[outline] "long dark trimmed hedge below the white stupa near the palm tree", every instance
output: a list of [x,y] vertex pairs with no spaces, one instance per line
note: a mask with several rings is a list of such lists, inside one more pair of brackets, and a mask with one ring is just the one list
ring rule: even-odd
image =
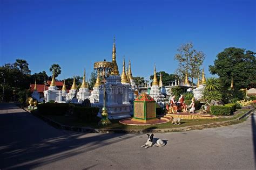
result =
[[44,103],[37,105],[38,112],[45,115],[65,115],[69,107],[69,103]]

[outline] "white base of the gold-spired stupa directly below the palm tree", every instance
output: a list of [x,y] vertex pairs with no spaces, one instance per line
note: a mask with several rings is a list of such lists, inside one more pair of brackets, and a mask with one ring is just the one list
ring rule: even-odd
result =
[[56,86],[50,86],[48,90],[44,91],[45,102],[53,100],[55,102],[62,102],[62,91],[58,90]]

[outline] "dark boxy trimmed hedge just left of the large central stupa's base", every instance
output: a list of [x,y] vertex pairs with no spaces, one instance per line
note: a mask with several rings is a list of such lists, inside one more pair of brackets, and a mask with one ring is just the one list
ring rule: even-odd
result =
[[85,122],[97,121],[99,108],[96,107],[74,107],[73,114]]

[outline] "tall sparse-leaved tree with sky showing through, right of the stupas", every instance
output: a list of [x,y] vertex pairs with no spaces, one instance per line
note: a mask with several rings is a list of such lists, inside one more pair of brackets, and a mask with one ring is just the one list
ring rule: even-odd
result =
[[174,60],[177,60],[179,64],[176,73],[181,79],[184,79],[185,73],[187,72],[188,77],[191,77],[192,83],[193,79],[199,76],[200,66],[205,59],[205,54],[201,51],[197,51],[193,47],[192,42],[182,44],[180,48],[178,48],[179,53],[174,56]]

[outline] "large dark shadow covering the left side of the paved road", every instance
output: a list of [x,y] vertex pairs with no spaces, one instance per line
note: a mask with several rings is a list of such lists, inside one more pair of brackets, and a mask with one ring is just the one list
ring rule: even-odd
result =
[[1,169],[36,168],[134,137],[67,132],[53,128],[28,112],[14,109],[0,114]]

